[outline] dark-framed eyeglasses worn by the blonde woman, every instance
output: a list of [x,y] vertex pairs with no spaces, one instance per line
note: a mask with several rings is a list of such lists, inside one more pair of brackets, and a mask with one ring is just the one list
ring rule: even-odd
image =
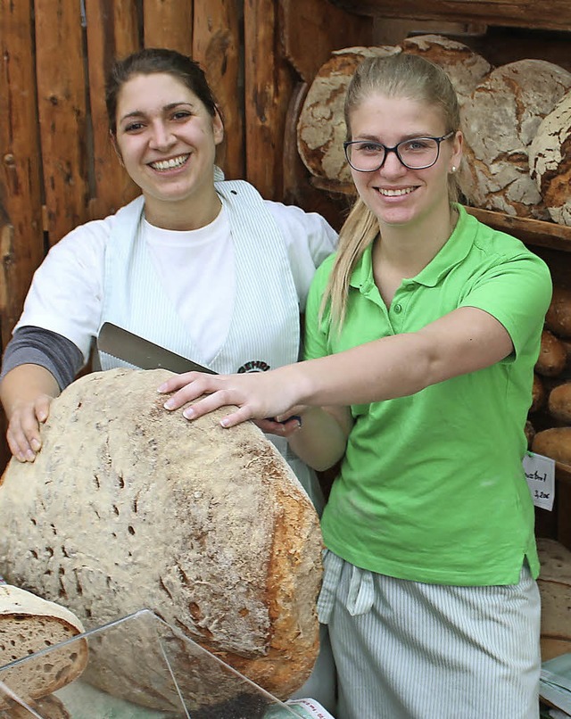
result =
[[350,140],[343,143],[343,150],[352,169],[358,172],[381,169],[388,153],[394,153],[405,168],[426,169],[438,160],[443,140],[448,140],[453,135],[454,130],[442,137],[412,137],[410,140],[402,140],[394,147],[370,140]]

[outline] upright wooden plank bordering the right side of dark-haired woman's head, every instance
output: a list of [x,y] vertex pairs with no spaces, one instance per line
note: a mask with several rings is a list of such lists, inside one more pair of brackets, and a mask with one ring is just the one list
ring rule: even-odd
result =
[[222,112],[225,141],[218,162],[228,179],[245,174],[241,28],[236,0],[194,0],[193,57],[206,72]]

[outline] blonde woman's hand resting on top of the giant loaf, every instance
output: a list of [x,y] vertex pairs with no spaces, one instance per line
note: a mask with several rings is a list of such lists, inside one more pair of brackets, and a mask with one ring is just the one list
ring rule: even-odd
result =
[[[170,377],[158,391],[173,393],[165,401],[165,409],[179,409],[193,402],[192,407],[183,410],[186,419],[203,417],[220,407],[236,406],[237,409],[222,418],[222,426],[231,427],[247,419],[258,419],[271,424],[271,427],[268,424],[261,426],[264,432],[289,436],[299,428],[299,422],[292,417],[299,415],[302,409],[297,406],[294,382],[289,381],[294,367],[288,365],[268,372],[242,375],[186,372]],[[278,426],[281,422],[285,422],[285,426]]]

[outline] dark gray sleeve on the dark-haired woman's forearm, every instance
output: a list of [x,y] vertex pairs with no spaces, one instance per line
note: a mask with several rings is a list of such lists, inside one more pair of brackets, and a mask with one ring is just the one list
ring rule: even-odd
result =
[[24,326],[14,332],[6,345],[0,379],[11,369],[26,364],[46,368],[62,390],[73,382],[83,366],[83,355],[67,337],[49,329]]

